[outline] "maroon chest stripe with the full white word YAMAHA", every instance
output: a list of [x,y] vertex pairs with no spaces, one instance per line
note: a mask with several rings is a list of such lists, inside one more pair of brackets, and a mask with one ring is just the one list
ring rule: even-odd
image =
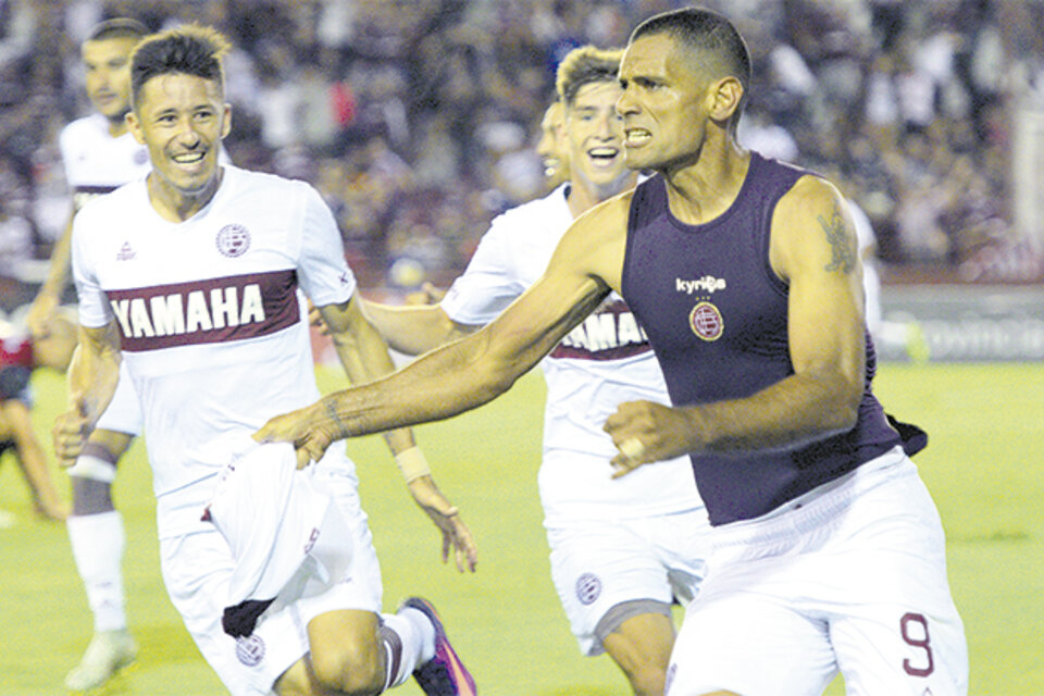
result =
[[300,321],[293,269],[107,290],[129,352],[266,336]]

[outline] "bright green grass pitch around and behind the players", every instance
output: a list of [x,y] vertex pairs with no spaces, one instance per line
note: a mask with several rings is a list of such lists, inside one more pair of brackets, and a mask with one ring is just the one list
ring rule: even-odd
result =
[[[335,373],[320,371],[326,389]],[[64,398],[60,376],[35,378],[39,434]],[[888,410],[923,425],[918,456],[948,537],[949,576],[971,658],[971,694],[1044,695],[1044,366],[882,366]],[[385,606],[430,597],[486,696],[608,696],[627,689],[608,658],[580,656],[549,579],[536,497],[543,382],[530,375],[473,413],[419,428],[443,489],[480,545],[475,575],[438,561],[438,538],[402,486],[377,437],[351,442],[382,560]],[[54,472],[62,488],[63,473]],[[98,693],[222,694],[172,609],[160,580],[151,480],[135,445],[115,484],[127,529],[127,611],[137,662]],[[91,633],[62,525],[37,520],[8,459],[0,508],[0,696],[65,693],[62,680]],[[397,693],[420,694],[412,684]],[[835,683],[829,694],[842,694]]]

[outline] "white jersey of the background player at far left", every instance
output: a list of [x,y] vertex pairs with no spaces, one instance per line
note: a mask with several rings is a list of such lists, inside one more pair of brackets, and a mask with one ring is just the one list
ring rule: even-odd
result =
[[112,137],[109,120],[100,113],[66,125],[58,142],[76,210],[94,196],[144,178],[152,169],[146,147],[130,133]]

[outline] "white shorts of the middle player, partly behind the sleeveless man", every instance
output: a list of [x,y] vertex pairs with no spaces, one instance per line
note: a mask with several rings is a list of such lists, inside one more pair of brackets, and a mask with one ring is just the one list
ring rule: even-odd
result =
[[709,533],[703,509],[548,527],[551,579],[581,651],[605,652],[606,636],[634,616],[612,612],[621,604],[669,614],[675,596],[689,601],[705,574]]

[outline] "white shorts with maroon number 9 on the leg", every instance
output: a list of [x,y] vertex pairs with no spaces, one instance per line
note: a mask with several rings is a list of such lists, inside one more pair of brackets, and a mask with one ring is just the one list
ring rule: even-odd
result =
[[713,538],[669,696],[819,695],[838,669],[848,694],[967,693],[942,524],[900,450]]

